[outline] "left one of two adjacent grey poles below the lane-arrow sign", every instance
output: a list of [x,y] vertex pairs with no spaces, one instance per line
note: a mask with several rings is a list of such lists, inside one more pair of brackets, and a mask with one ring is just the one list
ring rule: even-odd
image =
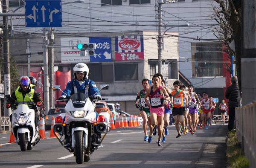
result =
[[44,48],[44,107],[49,110],[49,76],[48,76],[48,30],[43,28],[43,48]]

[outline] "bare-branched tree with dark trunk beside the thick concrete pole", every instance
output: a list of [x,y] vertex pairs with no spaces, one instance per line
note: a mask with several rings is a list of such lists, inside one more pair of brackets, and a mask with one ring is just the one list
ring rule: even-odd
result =
[[[241,42],[242,42],[242,13],[241,0],[213,0],[218,3],[214,6],[215,12],[213,18],[218,23],[218,28],[214,29],[214,35],[220,38],[227,46],[225,50],[229,57],[236,56],[237,77],[239,87],[241,88]],[[235,41],[235,52],[229,47],[232,41]]]

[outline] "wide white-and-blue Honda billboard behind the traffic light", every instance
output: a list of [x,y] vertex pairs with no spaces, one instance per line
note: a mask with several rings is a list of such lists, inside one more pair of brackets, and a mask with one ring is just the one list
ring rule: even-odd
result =
[[[96,43],[95,54],[92,56],[80,56],[80,49],[77,49],[79,43]],[[107,62],[112,61],[111,38],[110,37],[75,37],[61,38],[61,62],[79,63],[79,62]]]

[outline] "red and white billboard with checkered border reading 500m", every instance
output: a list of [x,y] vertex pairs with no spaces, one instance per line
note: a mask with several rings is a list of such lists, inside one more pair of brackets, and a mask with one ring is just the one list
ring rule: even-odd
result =
[[118,36],[116,43],[116,61],[144,60],[143,35]]

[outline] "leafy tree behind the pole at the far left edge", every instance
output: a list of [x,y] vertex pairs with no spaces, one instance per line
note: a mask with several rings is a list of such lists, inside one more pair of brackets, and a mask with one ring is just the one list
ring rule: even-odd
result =
[[[3,74],[3,58],[0,58],[0,69],[1,69],[1,83],[4,83]],[[11,93],[17,89],[19,81],[19,72],[17,71],[17,64],[13,57],[10,57],[10,77],[11,77]]]

